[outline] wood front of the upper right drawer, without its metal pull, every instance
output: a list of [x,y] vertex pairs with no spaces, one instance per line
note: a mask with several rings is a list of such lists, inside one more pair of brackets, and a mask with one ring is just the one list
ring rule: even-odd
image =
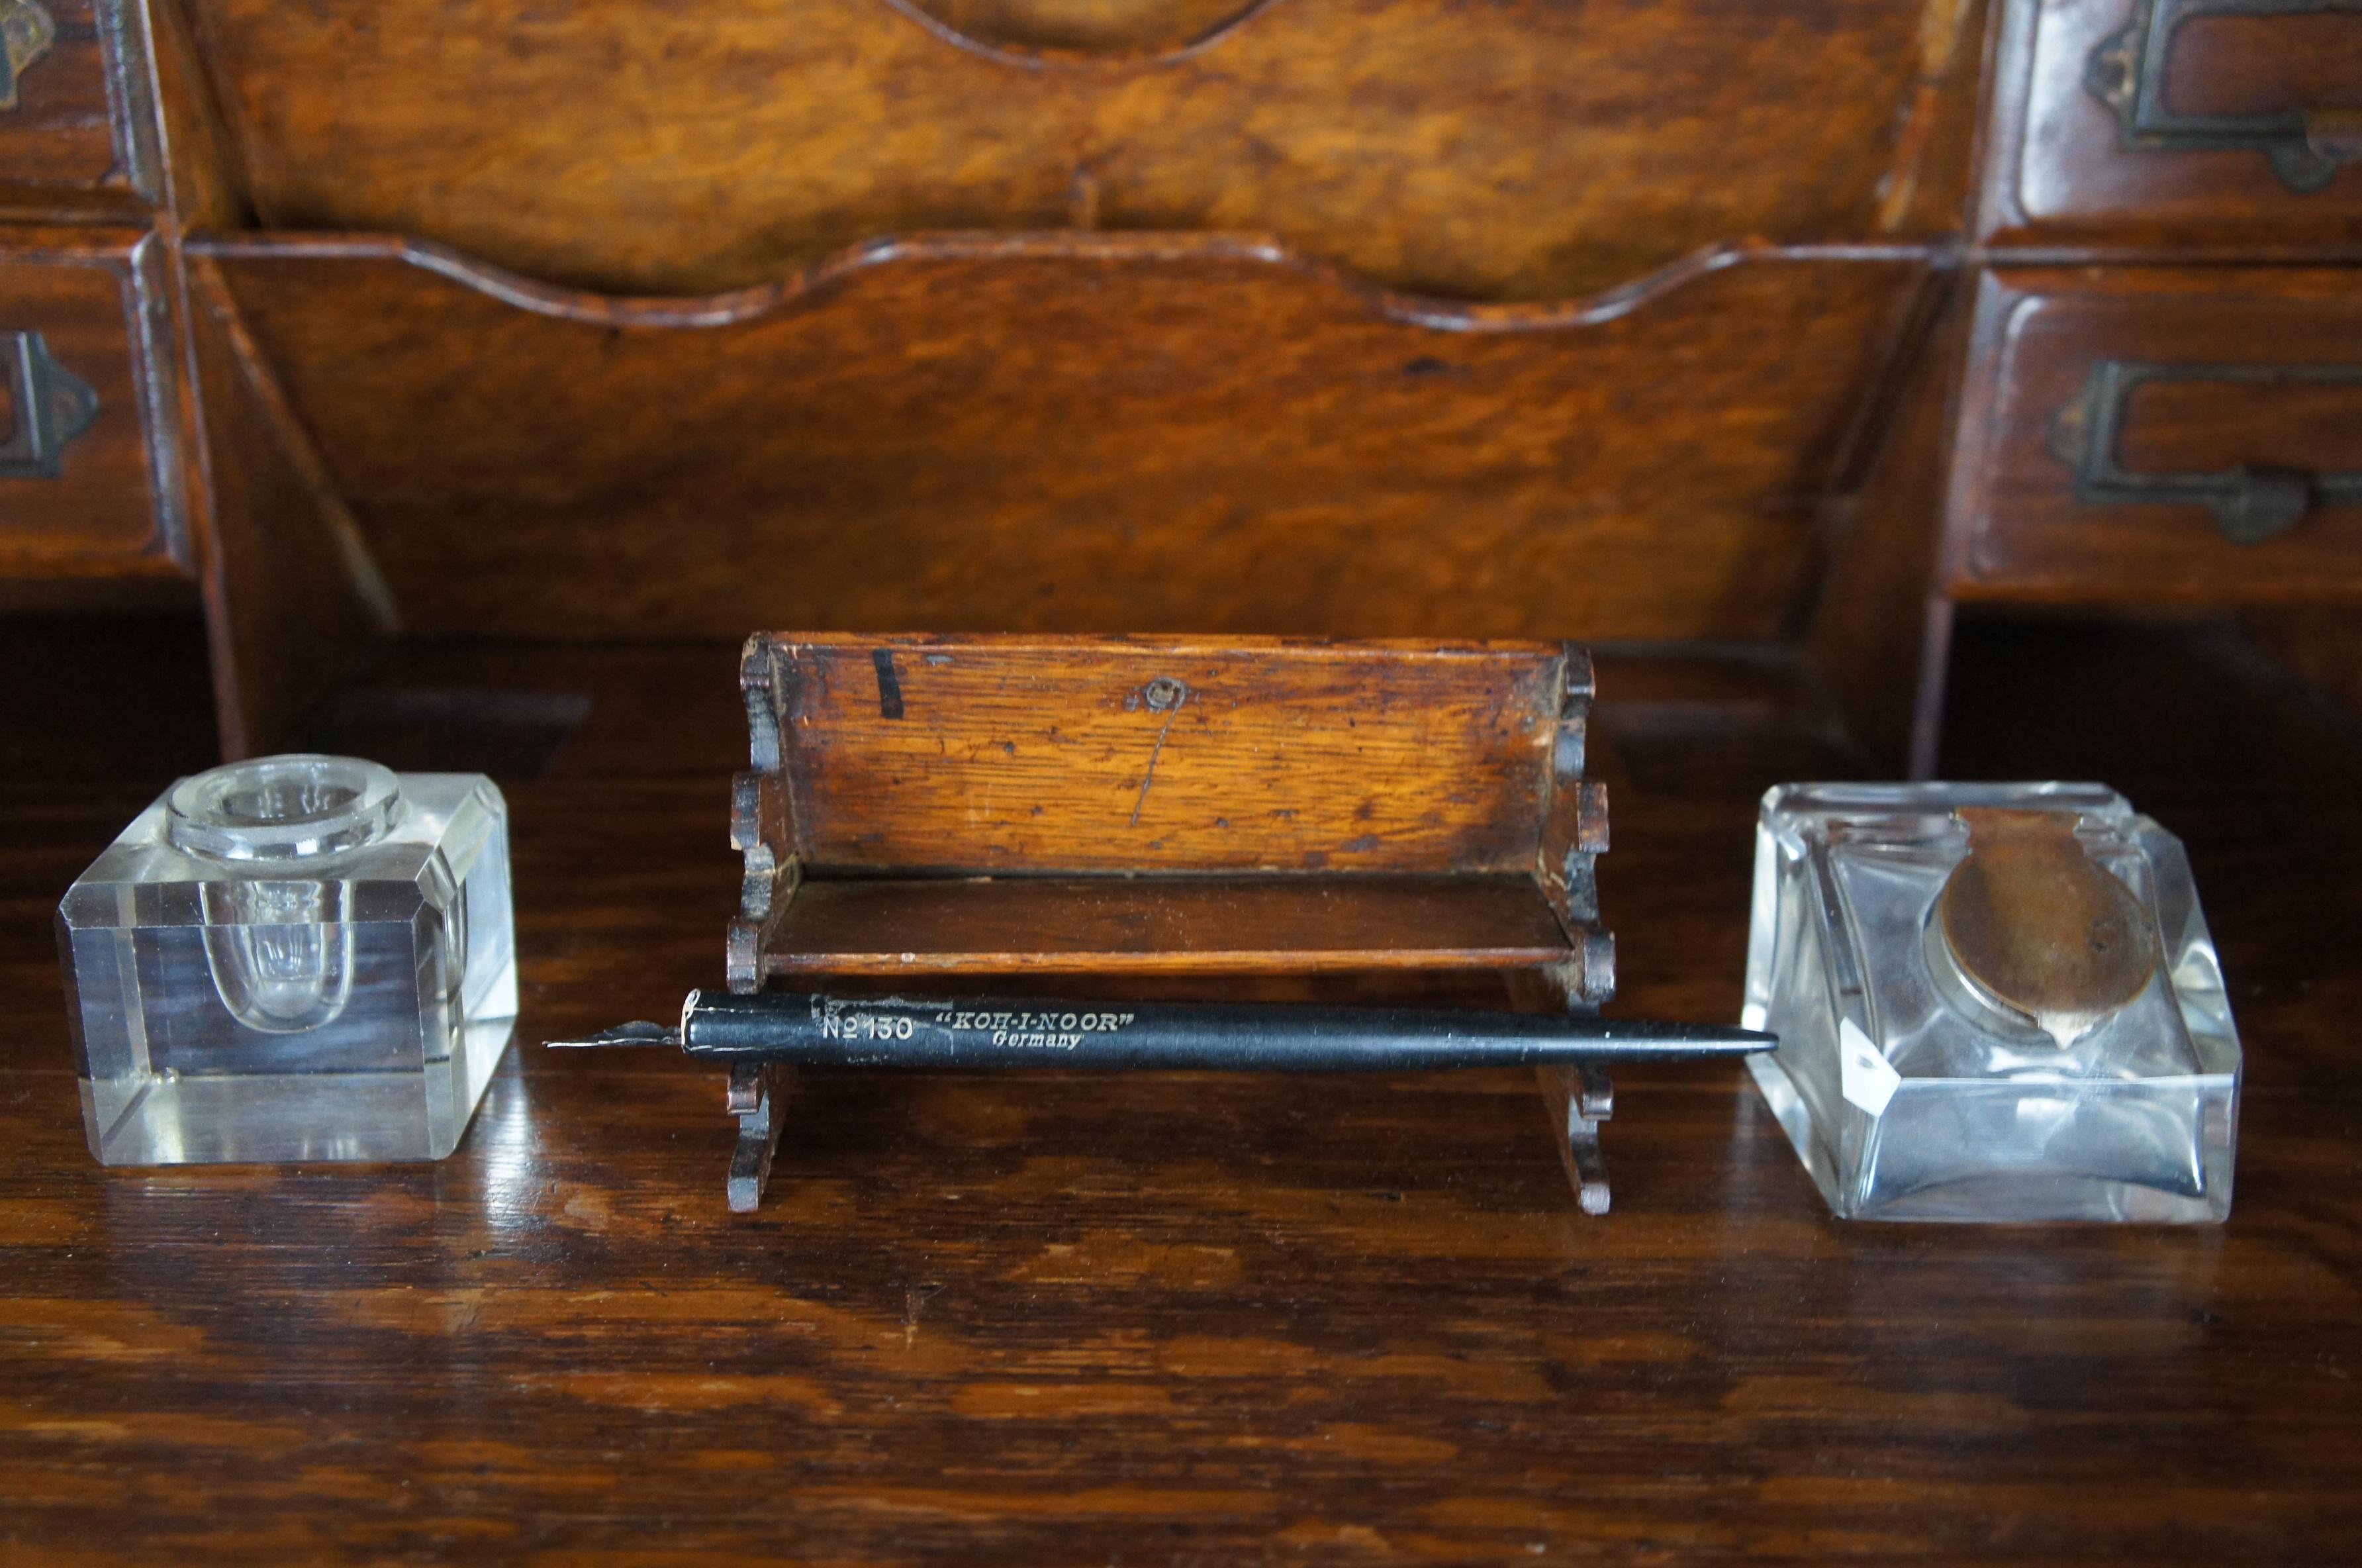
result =
[[[2263,151],[2126,146],[2090,57],[2147,0],[2008,7],[1994,57],[1979,231],[1994,243],[2298,246],[2362,255],[2362,161],[2289,189]],[[2164,104],[2208,113],[2362,113],[2362,12],[2204,17],[2175,31]]]

